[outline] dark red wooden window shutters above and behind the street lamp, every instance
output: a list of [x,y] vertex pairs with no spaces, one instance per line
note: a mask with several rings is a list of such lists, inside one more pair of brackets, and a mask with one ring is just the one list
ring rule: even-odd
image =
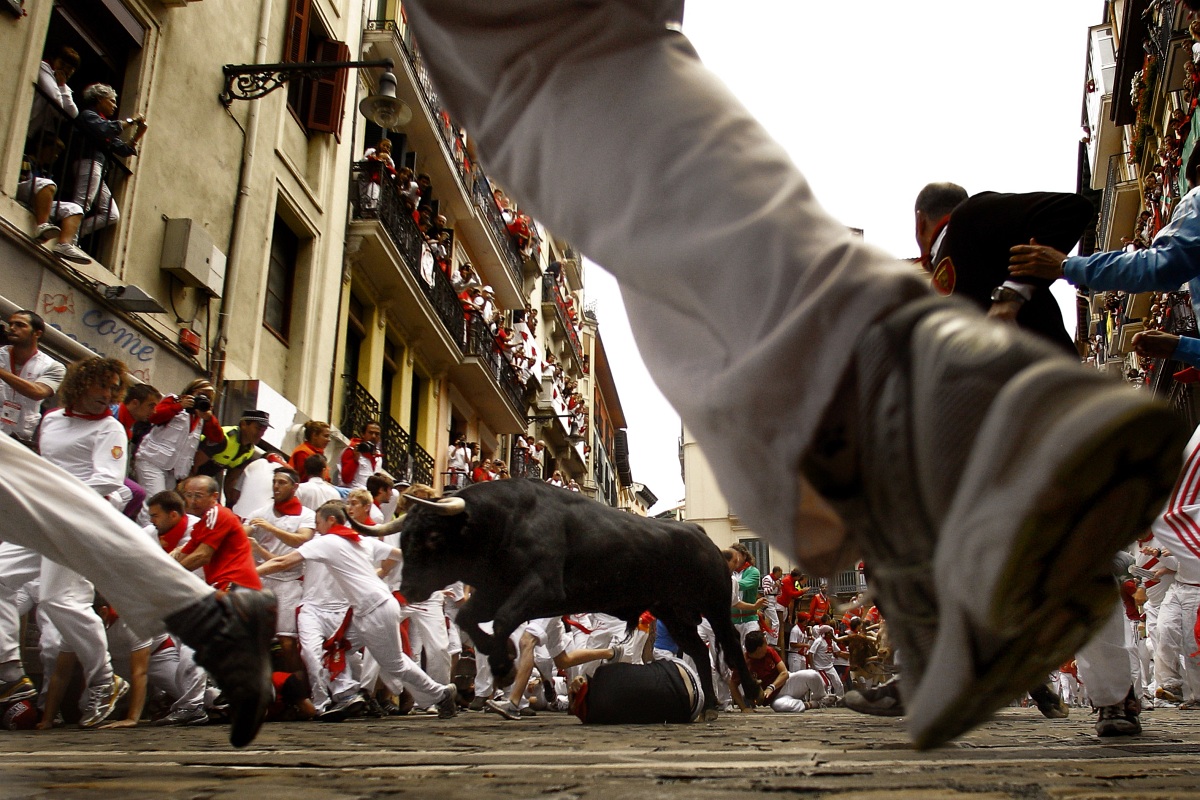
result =
[[[325,31],[313,0],[292,0],[283,40],[284,61],[349,61],[350,48]],[[349,70],[288,82],[288,107],[308,133],[338,133]]]

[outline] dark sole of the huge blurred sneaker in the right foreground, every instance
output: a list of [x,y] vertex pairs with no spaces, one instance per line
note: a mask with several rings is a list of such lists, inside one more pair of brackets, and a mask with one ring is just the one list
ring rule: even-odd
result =
[[1016,525],[986,620],[960,604],[941,609],[930,672],[912,703],[918,748],[986,721],[1104,624],[1117,600],[1112,554],[1162,510],[1187,439],[1174,414],[1142,401],[1058,461]]

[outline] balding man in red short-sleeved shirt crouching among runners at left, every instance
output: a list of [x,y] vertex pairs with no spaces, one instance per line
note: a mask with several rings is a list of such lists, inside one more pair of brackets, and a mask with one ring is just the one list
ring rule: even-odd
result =
[[218,590],[230,584],[262,589],[250,539],[238,516],[217,501],[216,481],[199,475],[182,488],[188,512],[200,521],[192,528],[192,539],[173,554],[175,560],[187,570],[204,567],[204,581]]

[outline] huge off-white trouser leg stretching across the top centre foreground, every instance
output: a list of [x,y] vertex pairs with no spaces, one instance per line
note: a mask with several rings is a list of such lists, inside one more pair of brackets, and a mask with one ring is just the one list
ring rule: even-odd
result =
[[616,276],[655,383],[722,456],[712,465],[730,505],[802,560],[828,558],[844,531],[800,510],[802,456],[860,333],[929,288],[821,209],[667,28],[679,5],[404,8],[484,167]]

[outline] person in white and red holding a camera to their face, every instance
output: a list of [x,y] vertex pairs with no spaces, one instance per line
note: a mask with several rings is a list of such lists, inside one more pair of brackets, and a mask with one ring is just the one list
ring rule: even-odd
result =
[[[196,464],[200,441],[220,446],[224,431],[212,414],[216,390],[197,378],[180,395],[163,397],[150,415],[150,431],[142,438],[134,475],[148,497],[174,489]],[[206,461],[206,459],[205,459]]]

